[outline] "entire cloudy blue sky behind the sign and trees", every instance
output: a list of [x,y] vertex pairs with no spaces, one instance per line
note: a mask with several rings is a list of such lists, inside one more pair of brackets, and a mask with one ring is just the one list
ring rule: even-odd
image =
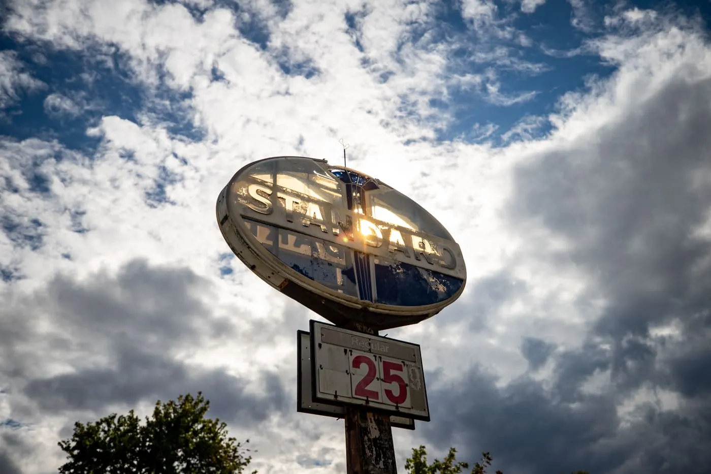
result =
[[0,5],[0,472],[75,421],[201,390],[260,473],[345,471],[296,412],[318,315],[215,201],[299,155],[382,179],[461,246],[411,448],[504,473],[711,472],[710,1]]

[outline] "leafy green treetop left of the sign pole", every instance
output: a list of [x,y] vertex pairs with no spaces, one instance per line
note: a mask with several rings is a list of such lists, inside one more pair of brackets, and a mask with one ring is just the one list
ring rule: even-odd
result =
[[[153,416],[140,423],[134,411],[94,423],[75,423],[60,441],[68,461],[60,474],[240,474],[252,460],[227,425],[205,418],[210,402],[201,392],[156,402]],[[246,441],[247,443],[249,440]],[[252,474],[257,473],[253,471]]]

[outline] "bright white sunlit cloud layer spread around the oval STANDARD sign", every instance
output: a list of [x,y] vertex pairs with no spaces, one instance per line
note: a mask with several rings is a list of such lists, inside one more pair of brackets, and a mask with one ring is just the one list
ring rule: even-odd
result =
[[[535,134],[547,119],[523,117],[502,135],[510,143],[494,149],[486,143],[497,130],[493,122],[472,127],[472,135],[484,144],[437,142],[434,127],[447,125],[451,117],[430,100],[453,100],[447,96],[453,85],[501,106],[525,104],[535,91],[503,93],[510,89],[496,70],[451,75],[451,45],[437,42],[425,31],[435,18],[432,4],[426,2],[366,6],[356,20],[363,51],[355,46],[353,32],[346,31],[344,19],[346,12],[361,11],[360,2],[294,2],[284,19],[275,6],[257,2],[249,15],[264,22],[267,48],[237,31],[235,22],[245,18],[228,9],[213,9],[196,21],[181,5],[138,0],[38,5],[18,3],[16,14],[6,22],[9,31],[46,39],[58,48],[98,44],[108,51],[109,43],[115,45],[128,56],[137,84],[149,98],[147,107],[157,100],[151,99],[151,91],[158,85],[189,92],[181,107],[206,136],[196,141],[175,137],[166,123],[146,110],[135,120],[108,112],[87,130],[100,141],[90,155],[46,139],[2,142],[2,216],[16,221],[24,237],[41,238],[41,246],[32,250],[21,238],[12,240],[0,233],[0,265],[26,277],[0,283],[7,295],[4,300],[12,301],[16,309],[31,309],[41,322],[28,330],[22,350],[50,358],[32,359],[37,363],[33,376],[79,373],[86,364],[99,368],[118,364],[100,331],[82,332],[69,349],[52,345],[66,342],[67,329],[60,322],[69,312],[52,310],[38,295],[50,288],[58,273],[71,288],[114,295],[104,293],[100,284],[111,288],[114,280],[124,281],[122,271],[136,258],[146,260],[150,270],[146,274],[160,273],[165,265],[177,267],[173,273],[189,270],[195,281],[202,282],[195,288],[204,293],[196,301],[209,308],[205,320],[222,321],[232,332],[225,331],[229,340],[218,335],[181,342],[171,347],[169,362],[187,364],[186,373],[193,376],[198,369],[224,370],[241,377],[249,391],[266,390],[262,378],[266,367],[287,387],[287,411],[275,409],[258,428],[237,421],[231,426],[238,438],[252,438],[260,472],[297,472],[304,455],[331,460],[321,472],[342,470],[343,426],[293,413],[294,330],[304,329],[314,315],[267,288],[236,260],[230,262],[234,273],[219,275],[221,254],[229,250],[216,228],[213,209],[232,173],[253,159],[277,154],[340,162],[338,138],[345,137],[351,143],[351,166],[420,201],[465,249],[470,280],[461,300],[432,320],[390,336],[421,343],[427,369],[442,372],[443,383],[461,385],[468,367],[483,364],[500,376],[497,386],[506,387],[527,367],[518,347],[522,337],[545,339],[560,351],[579,347],[608,297],[590,295],[597,276],[594,268],[570,260],[574,242],[540,222],[512,223],[506,218],[506,205],[516,191],[517,167],[567,156],[572,144],[583,150],[574,159],[597,162],[599,157],[584,152],[582,144],[594,149],[601,136],[611,142],[619,139],[600,131],[630,120],[646,103],[661,100],[670,83],[698,84],[711,76],[710,51],[699,31],[638,12],[611,18],[606,36],[589,41],[587,47],[616,72],[562,95],[559,109],[550,117],[549,135]],[[462,11],[475,22],[490,21],[497,13],[490,2],[466,2]],[[503,49],[481,60],[488,64],[507,58],[508,50]],[[306,63],[314,75],[284,73],[280,63],[292,68]],[[213,67],[223,80],[212,80]],[[161,68],[169,73],[164,84]],[[17,90],[17,83],[12,84]],[[50,110],[64,113],[74,113],[79,104],[80,100],[58,94],[46,99]],[[412,144],[406,145],[410,139]],[[35,172],[46,177],[47,191],[35,189]],[[166,181],[161,173],[172,179]],[[146,198],[158,185],[164,186],[170,203],[156,205]],[[576,204],[584,203],[570,205]],[[41,226],[32,223],[32,217]],[[87,232],[77,233],[80,229]],[[538,247],[532,248],[534,243]],[[558,260],[545,258],[550,255]],[[146,288],[156,285],[151,281]],[[143,314],[137,312],[145,310],[141,305],[157,305],[140,288],[129,286],[125,291],[133,299],[120,306],[127,315]],[[156,293],[158,297],[162,295]],[[559,365],[552,360],[545,367],[553,373]],[[60,428],[77,416],[95,414],[45,418],[38,401],[23,393],[27,380],[2,376],[2,383],[17,387],[4,396],[4,411],[17,419],[31,418],[38,426],[36,433],[41,433],[26,436],[36,453],[34,460],[26,460],[26,472],[50,470],[60,463],[55,447]],[[129,402],[114,406],[124,409]],[[437,420],[431,425],[437,426]],[[398,431],[398,455],[422,441],[423,433],[427,431]]]

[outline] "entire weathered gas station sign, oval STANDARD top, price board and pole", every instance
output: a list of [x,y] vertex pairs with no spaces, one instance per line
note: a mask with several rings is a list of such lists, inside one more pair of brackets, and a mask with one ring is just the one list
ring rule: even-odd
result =
[[247,164],[217,218],[250,270],[334,324],[297,334],[297,410],[345,418],[349,474],[395,473],[391,426],[415,429],[429,406],[419,346],[378,332],[459,297],[459,246],[382,181],[305,157]]

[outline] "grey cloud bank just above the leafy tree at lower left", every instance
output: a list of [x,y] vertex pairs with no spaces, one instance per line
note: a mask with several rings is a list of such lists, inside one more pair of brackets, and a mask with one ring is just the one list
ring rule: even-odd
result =
[[[15,384],[26,382],[24,394],[46,414],[103,415],[115,404],[135,406],[197,391],[210,400],[210,414],[225,421],[249,424],[284,411],[287,396],[276,374],[261,372],[248,388],[250,381],[225,369],[201,369],[174,357],[205,338],[233,334],[198,298],[210,291],[187,268],[143,260],[115,276],[97,273],[77,281],[59,275],[46,290],[6,308],[4,316],[17,324],[0,333],[0,368]],[[28,323],[43,315],[55,332],[41,334]],[[74,370],[46,376],[48,359]]]

